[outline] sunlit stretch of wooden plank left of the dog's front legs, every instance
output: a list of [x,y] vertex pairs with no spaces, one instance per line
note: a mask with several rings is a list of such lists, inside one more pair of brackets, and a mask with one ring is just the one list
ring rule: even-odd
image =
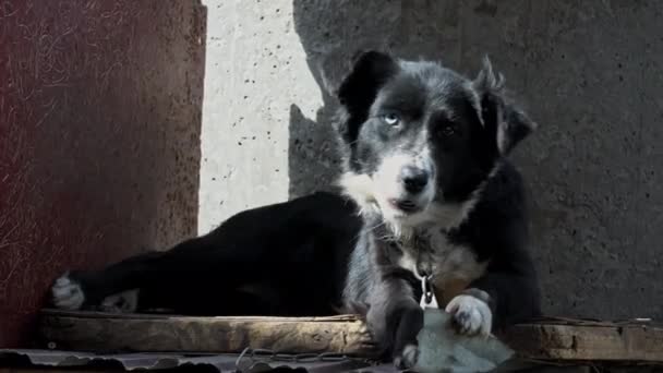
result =
[[371,338],[354,316],[185,317],[45,311],[41,333],[58,349],[82,351],[281,352],[365,356]]

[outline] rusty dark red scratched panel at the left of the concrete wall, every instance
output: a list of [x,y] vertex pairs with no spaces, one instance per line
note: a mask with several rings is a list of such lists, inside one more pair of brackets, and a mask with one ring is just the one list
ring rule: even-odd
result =
[[195,234],[200,1],[0,2],[0,347],[65,268]]

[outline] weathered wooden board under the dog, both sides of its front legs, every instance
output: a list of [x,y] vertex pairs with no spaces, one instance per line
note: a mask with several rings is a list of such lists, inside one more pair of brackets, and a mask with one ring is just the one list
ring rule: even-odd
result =
[[[334,317],[183,317],[45,310],[41,332],[59,349],[142,352],[279,352],[370,356],[364,323]],[[526,359],[663,362],[663,328],[642,323],[542,320],[499,336]]]

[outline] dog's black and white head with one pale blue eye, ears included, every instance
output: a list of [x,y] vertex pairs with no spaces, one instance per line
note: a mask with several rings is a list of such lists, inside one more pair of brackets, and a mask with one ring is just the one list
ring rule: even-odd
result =
[[474,80],[370,51],[338,89],[341,185],[363,210],[414,226],[461,206],[534,128],[487,58]]

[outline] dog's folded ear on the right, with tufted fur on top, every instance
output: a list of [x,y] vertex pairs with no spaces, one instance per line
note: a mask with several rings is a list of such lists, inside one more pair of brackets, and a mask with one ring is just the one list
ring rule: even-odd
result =
[[483,125],[495,140],[501,155],[507,155],[537,129],[537,123],[507,97],[504,82],[504,76],[495,75],[490,59],[484,57],[472,85],[479,94]]

